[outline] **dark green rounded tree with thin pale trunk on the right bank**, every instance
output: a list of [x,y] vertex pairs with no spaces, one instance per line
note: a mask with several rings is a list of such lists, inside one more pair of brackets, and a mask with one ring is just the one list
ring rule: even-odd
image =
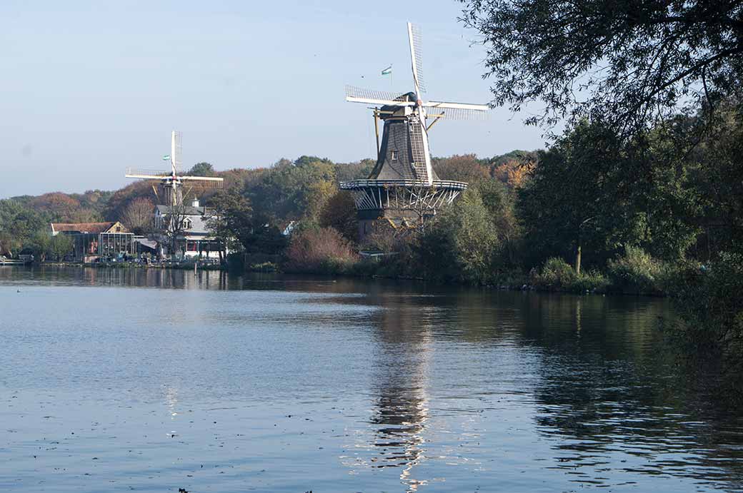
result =
[[531,263],[561,255],[580,273],[583,253],[603,261],[627,240],[635,219],[626,189],[629,163],[617,137],[602,125],[581,122],[540,153],[531,180],[519,190],[519,211]]

